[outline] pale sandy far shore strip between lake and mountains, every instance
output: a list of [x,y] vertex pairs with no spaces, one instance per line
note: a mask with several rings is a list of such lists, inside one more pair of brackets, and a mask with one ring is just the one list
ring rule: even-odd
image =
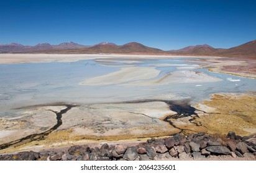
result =
[[[199,58],[198,61],[208,61],[208,59],[203,60],[203,58],[213,58],[219,59],[216,62],[213,62],[214,68],[208,68],[211,72],[223,73],[223,74],[232,74],[237,75],[239,77],[249,77],[256,78],[256,70],[255,64],[256,60],[252,57],[222,57],[222,56],[190,56],[190,55],[167,55],[167,54],[34,54],[34,53],[24,53],[24,54],[16,54],[16,53],[0,53],[0,64],[23,64],[23,63],[47,63],[47,62],[76,62],[81,60],[89,60],[89,59],[112,59],[112,58],[124,58],[124,59],[157,59],[158,57],[163,58],[174,58],[174,57],[184,57],[184,58]],[[203,60],[203,61],[202,61]],[[226,61],[226,62],[225,62]],[[244,62],[245,64],[241,63]],[[227,62],[231,62],[230,64]],[[230,72],[226,69],[227,66],[234,66],[232,63],[234,62],[237,67],[242,67],[242,71],[240,68],[235,69]],[[226,66],[225,66],[226,65]],[[247,72],[250,70],[250,73]]]

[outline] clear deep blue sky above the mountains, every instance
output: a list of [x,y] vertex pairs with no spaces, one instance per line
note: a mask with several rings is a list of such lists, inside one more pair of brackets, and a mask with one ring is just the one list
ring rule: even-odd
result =
[[231,48],[256,39],[255,7],[254,0],[1,0],[0,43]]

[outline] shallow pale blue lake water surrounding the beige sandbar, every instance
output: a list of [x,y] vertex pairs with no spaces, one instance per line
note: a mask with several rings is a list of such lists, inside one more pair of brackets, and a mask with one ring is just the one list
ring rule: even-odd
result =
[[[175,95],[177,99],[191,98],[192,102],[208,98],[212,93],[255,91],[256,80],[234,75],[193,69],[221,78],[220,82],[172,83],[157,86],[100,85],[85,86],[78,83],[92,77],[116,72],[128,65],[155,67],[161,70],[158,77],[178,70],[177,64],[193,65],[183,58],[171,59],[104,59],[104,61],[83,60],[77,62],[48,62],[0,65],[0,117],[17,116],[22,106],[68,103],[107,103],[132,99],[147,99],[154,95]],[[121,61],[132,61],[131,63]],[[191,59],[190,59],[191,60]],[[174,64],[157,66],[157,64]],[[202,64],[200,62],[200,64]],[[233,80],[233,82],[231,81]],[[234,81],[237,80],[237,81]],[[240,80],[240,81],[238,81]],[[175,98],[171,98],[175,99]]]

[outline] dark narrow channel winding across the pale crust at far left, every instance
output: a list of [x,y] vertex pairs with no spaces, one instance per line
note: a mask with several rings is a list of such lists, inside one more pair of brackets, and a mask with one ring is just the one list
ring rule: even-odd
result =
[[[47,106],[47,105],[43,105],[43,106]],[[50,106],[52,106],[52,105],[50,105]],[[4,143],[4,144],[0,145],[0,150],[8,148],[9,146],[19,146],[19,145],[22,145],[24,143],[29,143],[31,141],[44,140],[47,135],[49,135],[50,133],[53,132],[53,130],[58,129],[58,127],[60,127],[60,125],[62,125],[62,114],[65,114],[71,108],[76,107],[76,105],[72,105],[72,104],[54,105],[54,106],[66,106],[66,108],[62,109],[60,112],[52,111],[56,114],[57,124],[55,124],[51,129],[49,129],[45,132],[42,132],[42,133],[35,133],[35,134],[32,134],[32,135],[28,135],[27,137],[21,138],[19,140],[11,141],[9,143]],[[51,110],[49,110],[49,111],[51,111]]]

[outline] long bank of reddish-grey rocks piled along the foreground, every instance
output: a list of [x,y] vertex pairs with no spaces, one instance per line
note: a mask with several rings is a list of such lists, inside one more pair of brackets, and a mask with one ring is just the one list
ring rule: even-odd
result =
[[256,135],[240,137],[229,132],[227,137],[206,133],[151,139],[134,146],[107,143],[100,148],[88,145],[70,146],[66,151],[23,151],[17,154],[0,154],[0,160],[9,161],[147,161],[147,160],[207,160],[230,158],[256,160]]

